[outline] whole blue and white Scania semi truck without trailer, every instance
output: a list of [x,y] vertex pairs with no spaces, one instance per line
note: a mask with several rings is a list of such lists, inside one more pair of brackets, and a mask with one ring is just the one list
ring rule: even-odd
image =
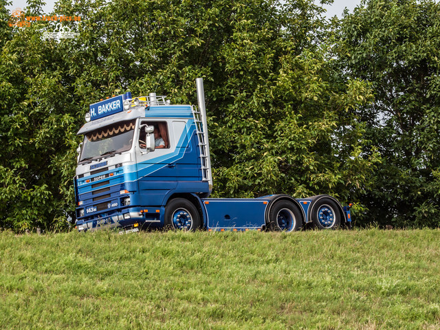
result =
[[351,223],[349,206],[334,197],[208,198],[212,173],[203,80],[198,107],[164,96],[130,93],[91,104],[78,131],[74,177],[76,227],[175,230],[283,230],[305,223],[338,228]]

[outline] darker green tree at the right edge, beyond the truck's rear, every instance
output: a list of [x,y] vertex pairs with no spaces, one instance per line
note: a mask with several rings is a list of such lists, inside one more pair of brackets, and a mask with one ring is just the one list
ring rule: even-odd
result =
[[375,94],[353,108],[383,158],[360,197],[365,221],[438,226],[440,5],[363,1],[345,12],[337,32],[342,71],[371,83]]

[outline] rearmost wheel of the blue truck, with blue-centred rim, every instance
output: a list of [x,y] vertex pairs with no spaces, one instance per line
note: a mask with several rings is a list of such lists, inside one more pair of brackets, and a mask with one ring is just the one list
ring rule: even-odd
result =
[[342,214],[335,201],[322,198],[311,209],[311,221],[318,229],[337,229],[341,225]]

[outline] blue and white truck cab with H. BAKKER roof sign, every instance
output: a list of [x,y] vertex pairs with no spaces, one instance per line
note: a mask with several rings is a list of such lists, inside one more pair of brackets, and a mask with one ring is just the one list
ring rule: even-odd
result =
[[171,196],[208,197],[195,111],[154,94],[91,104],[78,131],[78,230],[163,227]]

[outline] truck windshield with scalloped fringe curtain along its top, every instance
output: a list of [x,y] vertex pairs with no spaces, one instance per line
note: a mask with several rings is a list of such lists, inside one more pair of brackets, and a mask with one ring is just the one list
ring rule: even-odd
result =
[[134,129],[135,120],[130,120],[85,134],[80,162],[130,150]]

